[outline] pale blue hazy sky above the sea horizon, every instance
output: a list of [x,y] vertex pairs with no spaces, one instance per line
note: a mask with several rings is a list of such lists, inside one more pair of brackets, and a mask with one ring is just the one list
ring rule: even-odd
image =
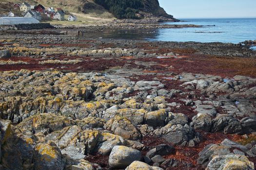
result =
[[256,0],[159,0],[176,18],[256,17]]

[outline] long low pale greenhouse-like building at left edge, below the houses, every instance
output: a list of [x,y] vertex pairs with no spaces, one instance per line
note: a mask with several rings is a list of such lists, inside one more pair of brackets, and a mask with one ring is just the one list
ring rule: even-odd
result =
[[0,17],[0,25],[16,25],[16,24],[38,24],[39,20],[33,17]]

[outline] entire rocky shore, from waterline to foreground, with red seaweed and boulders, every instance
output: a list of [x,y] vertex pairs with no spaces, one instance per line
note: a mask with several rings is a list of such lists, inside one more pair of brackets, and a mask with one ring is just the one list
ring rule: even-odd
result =
[[0,32],[0,169],[255,169],[256,51],[67,31]]

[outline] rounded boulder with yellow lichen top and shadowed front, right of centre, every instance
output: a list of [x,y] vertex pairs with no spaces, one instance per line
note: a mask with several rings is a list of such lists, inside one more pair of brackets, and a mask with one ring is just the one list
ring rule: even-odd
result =
[[160,109],[145,114],[145,120],[148,125],[153,127],[164,126],[166,123],[167,112],[165,109]]

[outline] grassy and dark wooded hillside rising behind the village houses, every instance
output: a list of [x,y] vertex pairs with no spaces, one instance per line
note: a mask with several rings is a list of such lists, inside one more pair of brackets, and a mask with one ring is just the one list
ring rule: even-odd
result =
[[[0,12],[8,12],[3,3],[22,3],[23,0],[1,0]],[[159,6],[158,0],[26,0],[36,5],[45,7],[59,7],[73,13],[91,14],[94,17],[103,18],[142,18],[153,15],[156,17],[168,17],[163,8]]]

